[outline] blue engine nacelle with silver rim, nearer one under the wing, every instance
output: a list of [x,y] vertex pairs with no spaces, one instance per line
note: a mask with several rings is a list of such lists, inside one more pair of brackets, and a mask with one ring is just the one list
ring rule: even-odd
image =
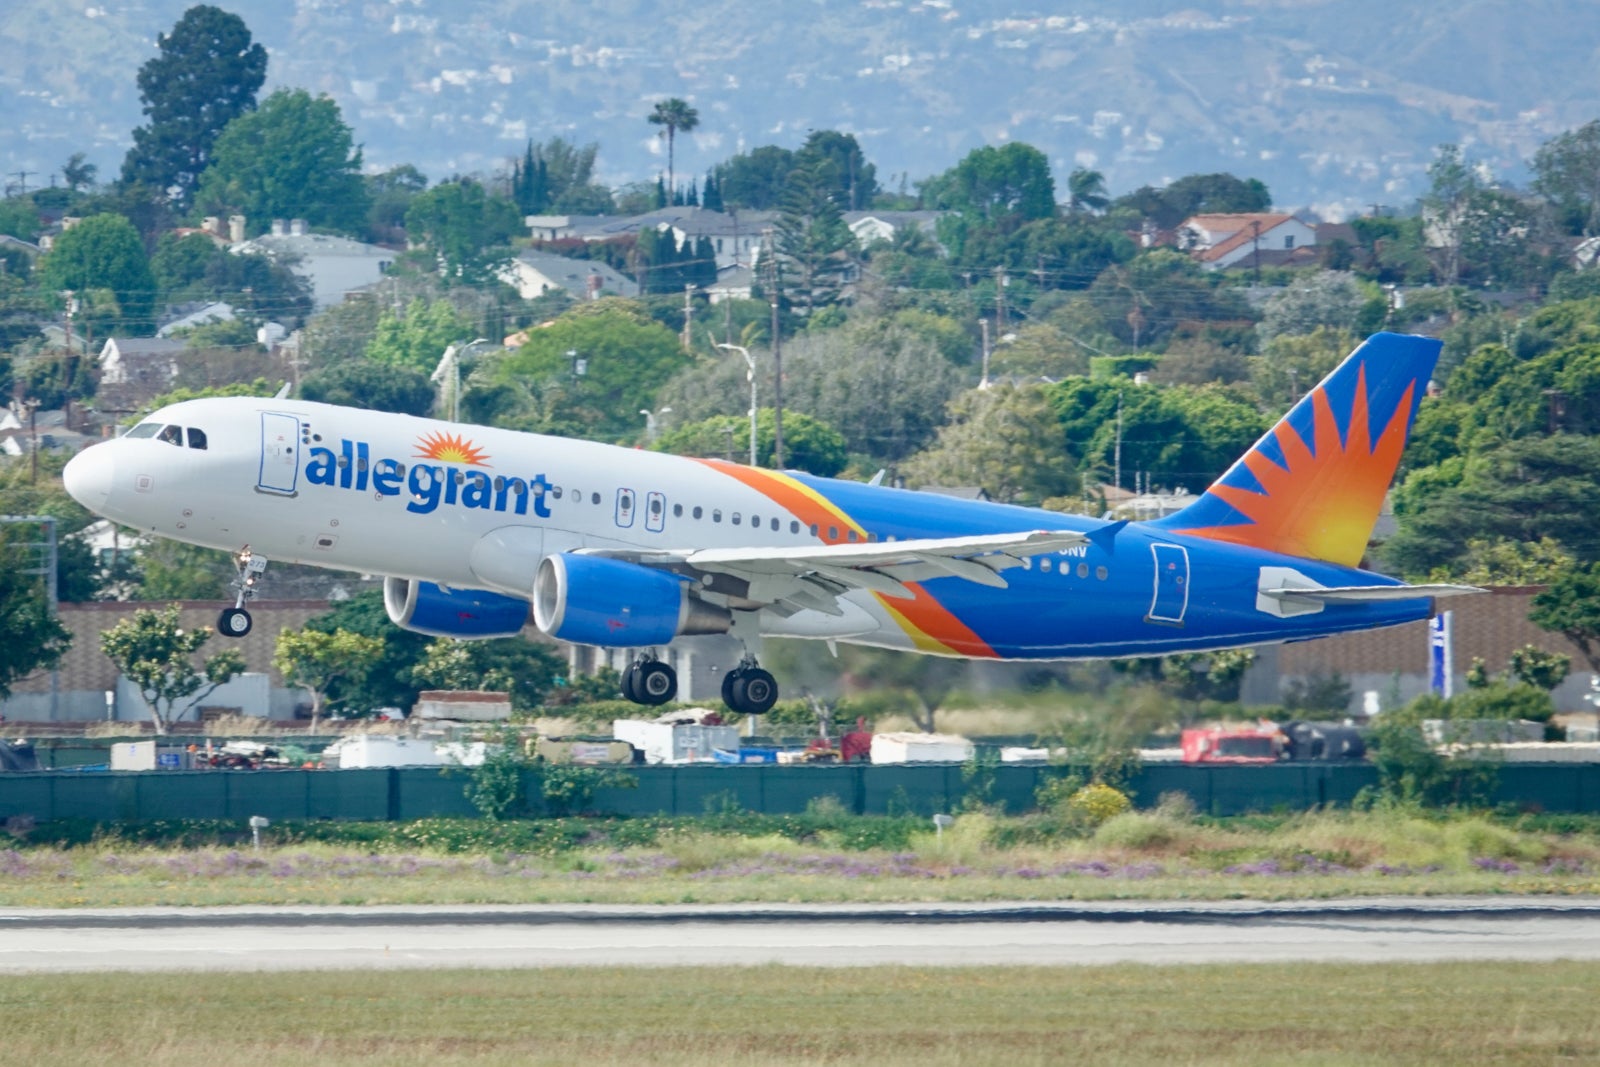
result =
[[677,574],[597,555],[549,555],[533,581],[533,621],[562,641],[606,648],[726,633],[726,609],[690,597]]

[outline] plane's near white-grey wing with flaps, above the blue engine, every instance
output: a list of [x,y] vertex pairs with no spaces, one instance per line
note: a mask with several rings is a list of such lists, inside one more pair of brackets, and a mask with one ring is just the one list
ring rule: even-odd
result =
[[[1114,528],[1112,528],[1114,526]],[[627,558],[645,566],[701,574],[726,574],[747,584],[741,600],[779,609],[816,609],[842,614],[837,598],[862,589],[898,600],[915,597],[907,582],[933,577],[960,577],[979,585],[1005,589],[1002,571],[1022,566],[1022,560],[1062,549],[1075,549],[1102,536],[1114,536],[1122,523],[1088,534],[1067,530],[976,534],[966,537],[918,537],[912,541],[856,541],[829,545],[782,545],[739,549],[682,549],[632,552],[586,549],[592,555]],[[715,592],[715,582],[710,584]],[[752,605],[754,606],[754,605]]]

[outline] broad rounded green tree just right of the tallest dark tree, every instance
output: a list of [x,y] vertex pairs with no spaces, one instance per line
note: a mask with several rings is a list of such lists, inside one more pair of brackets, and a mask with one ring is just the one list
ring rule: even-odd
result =
[[195,203],[205,214],[243,214],[254,234],[290,218],[360,234],[362,150],[331,98],[278,90],[216,139]]

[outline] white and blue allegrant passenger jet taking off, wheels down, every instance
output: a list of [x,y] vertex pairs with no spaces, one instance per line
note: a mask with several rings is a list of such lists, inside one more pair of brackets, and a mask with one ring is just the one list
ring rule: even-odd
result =
[[226,637],[267,560],[384,576],[389,617],[454,638],[637,649],[622,694],[677,694],[659,649],[728,633],[738,713],[768,637],[973,659],[1165,656],[1426,619],[1469,585],[1358,569],[1438,357],[1378,333],[1195,502],[1154,522],[962,501],[795,470],[280,394],[165,406],[66,467],[118,523],[234,553]]

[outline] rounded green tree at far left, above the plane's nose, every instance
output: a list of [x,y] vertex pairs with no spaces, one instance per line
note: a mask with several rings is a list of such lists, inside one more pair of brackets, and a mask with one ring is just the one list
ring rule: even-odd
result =
[[155,277],[144,242],[120,214],[94,214],[67,229],[38,261],[38,283],[50,293],[80,296],[80,320],[104,336],[155,331]]

